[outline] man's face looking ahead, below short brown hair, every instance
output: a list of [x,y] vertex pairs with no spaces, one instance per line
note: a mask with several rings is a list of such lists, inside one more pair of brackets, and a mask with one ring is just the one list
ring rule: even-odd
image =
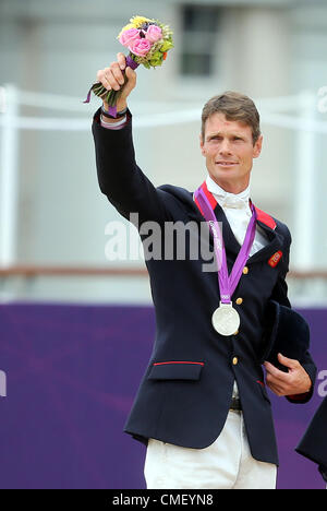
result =
[[261,135],[253,145],[250,126],[228,121],[221,112],[213,114],[206,121],[205,140],[201,136],[202,154],[211,179],[218,185],[243,185],[246,188],[253,158],[261,154],[262,142]]

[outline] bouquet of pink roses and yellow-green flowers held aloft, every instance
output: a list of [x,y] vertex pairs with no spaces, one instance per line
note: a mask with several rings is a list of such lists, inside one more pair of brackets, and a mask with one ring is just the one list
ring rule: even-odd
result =
[[[172,32],[168,25],[164,25],[157,20],[149,20],[144,16],[134,16],[125,25],[118,36],[118,40],[129,48],[126,66],[136,69],[140,64],[145,68],[157,68],[167,58],[167,52],[173,47]],[[84,103],[89,103],[90,92],[100,96],[108,103],[109,109],[116,116],[116,105],[128,81],[125,73],[124,84],[119,91],[108,91],[99,82],[95,83]]]

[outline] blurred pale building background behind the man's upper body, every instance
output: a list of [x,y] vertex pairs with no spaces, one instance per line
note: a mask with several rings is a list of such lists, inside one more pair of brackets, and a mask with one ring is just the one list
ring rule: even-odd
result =
[[162,69],[137,71],[140,166],[157,186],[194,190],[203,104],[225,90],[253,97],[264,151],[252,198],[293,235],[293,304],[326,305],[327,4],[316,0],[0,0],[0,299],[150,302],[142,259],[106,258],[106,225],[120,217],[96,179],[99,100],[82,103],[134,14],[170,24],[175,43]]

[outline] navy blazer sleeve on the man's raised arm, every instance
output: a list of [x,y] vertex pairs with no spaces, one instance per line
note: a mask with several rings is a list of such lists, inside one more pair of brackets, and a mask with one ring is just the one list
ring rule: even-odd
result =
[[169,219],[166,192],[155,188],[137,166],[130,111],[128,119],[122,129],[109,130],[100,124],[100,109],[94,116],[92,131],[100,190],[125,218],[137,213],[141,223],[162,223]]

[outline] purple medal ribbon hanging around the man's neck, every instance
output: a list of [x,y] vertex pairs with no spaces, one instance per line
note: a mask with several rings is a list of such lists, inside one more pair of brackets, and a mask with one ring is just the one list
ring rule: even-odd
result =
[[215,255],[218,264],[218,282],[220,289],[220,301],[222,304],[230,304],[231,296],[234,293],[240,278],[242,276],[243,269],[250,255],[251,247],[255,236],[255,223],[256,223],[256,211],[254,205],[251,203],[252,217],[249,222],[245,238],[241,250],[237,257],[230,275],[228,275],[226,249],[223,243],[222,234],[217,222],[216,215],[211,207],[211,204],[206,197],[202,187],[199,187],[194,193],[194,200],[201,207],[201,212],[209,225],[209,228],[214,236],[214,248]]

